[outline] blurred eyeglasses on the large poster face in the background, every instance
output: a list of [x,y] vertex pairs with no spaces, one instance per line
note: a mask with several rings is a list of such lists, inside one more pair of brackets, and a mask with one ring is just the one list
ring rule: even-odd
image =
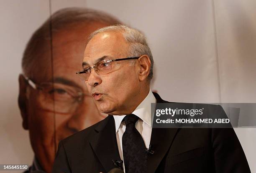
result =
[[85,96],[87,96],[85,101],[92,99],[91,95],[83,93],[82,89],[74,86],[52,82],[36,84],[27,76],[23,75],[23,77],[34,90],[39,91],[37,100],[44,110],[56,113],[73,113]]

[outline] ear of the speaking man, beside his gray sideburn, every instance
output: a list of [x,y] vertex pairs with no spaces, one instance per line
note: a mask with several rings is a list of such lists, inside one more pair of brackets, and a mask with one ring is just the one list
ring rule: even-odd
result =
[[146,80],[146,78],[149,75],[151,61],[150,61],[148,55],[142,55],[138,59],[138,61],[139,61],[139,65],[140,65],[139,80],[143,81],[143,80]]

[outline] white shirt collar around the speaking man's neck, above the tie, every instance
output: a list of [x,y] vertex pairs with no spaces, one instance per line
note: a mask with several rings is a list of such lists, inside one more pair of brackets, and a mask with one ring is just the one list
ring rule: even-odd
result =
[[[151,103],[156,103],[156,98],[151,89],[149,89],[146,98],[138,105],[132,114],[137,115],[141,120],[151,127]],[[115,133],[117,133],[123,118],[126,115],[113,115],[115,119]]]

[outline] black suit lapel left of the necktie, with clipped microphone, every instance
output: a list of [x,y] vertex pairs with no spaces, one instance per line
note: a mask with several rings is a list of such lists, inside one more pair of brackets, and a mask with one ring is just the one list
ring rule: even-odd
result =
[[[90,144],[100,163],[108,172],[116,168],[112,160],[121,160],[115,135],[115,120],[112,115],[95,128]],[[122,167],[122,164],[120,164]]]

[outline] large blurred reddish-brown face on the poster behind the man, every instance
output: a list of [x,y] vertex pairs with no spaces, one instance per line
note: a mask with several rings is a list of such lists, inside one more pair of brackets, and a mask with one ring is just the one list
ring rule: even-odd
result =
[[[105,115],[97,110],[86,85],[75,74],[82,68],[87,36],[104,26],[106,25],[101,23],[72,25],[54,34],[53,66],[50,44],[45,43],[38,50],[38,68],[33,74],[27,74],[37,84],[54,81],[54,85],[60,86],[46,93],[52,97],[54,95],[54,102],[47,101],[45,93],[41,90],[33,89],[29,85],[26,88],[26,112],[23,113],[23,121],[27,123],[36,158],[46,172],[51,172],[60,140],[105,118]],[[72,96],[62,87],[69,88]],[[77,93],[72,91],[79,91],[84,95],[77,98]],[[63,100],[69,101],[65,103]]]

